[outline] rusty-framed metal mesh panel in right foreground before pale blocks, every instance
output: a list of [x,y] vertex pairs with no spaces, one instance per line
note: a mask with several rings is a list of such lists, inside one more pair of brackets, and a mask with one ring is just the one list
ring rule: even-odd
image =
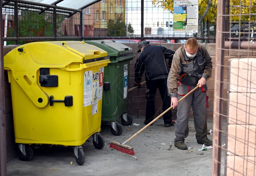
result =
[[256,175],[255,7],[218,2],[212,175]]

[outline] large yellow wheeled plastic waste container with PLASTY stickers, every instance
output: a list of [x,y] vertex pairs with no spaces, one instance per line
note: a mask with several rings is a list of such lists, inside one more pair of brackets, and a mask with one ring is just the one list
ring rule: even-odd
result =
[[4,57],[11,85],[15,142],[19,158],[33,157],[31,144],[74,146],[84,163],[82,144],[100,136],[104,67],[108,53],[83,41],[21,45]]

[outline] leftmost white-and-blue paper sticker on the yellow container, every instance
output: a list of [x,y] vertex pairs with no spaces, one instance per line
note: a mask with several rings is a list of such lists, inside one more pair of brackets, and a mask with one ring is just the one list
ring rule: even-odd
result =
[[84,72],[83,107],[92,104],[92,70]]

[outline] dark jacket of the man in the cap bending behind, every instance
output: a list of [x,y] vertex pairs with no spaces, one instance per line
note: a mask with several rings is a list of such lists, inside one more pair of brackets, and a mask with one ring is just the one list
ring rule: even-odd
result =
[[[175,51],[164,46],[146,45],[135,64],[135,82],[141,82],[144,71],[146,81],[159,75],[168,75],[170,71],[168,65],[172,64],[174,53]],[[168,64],[165,59],[168,59]]]

